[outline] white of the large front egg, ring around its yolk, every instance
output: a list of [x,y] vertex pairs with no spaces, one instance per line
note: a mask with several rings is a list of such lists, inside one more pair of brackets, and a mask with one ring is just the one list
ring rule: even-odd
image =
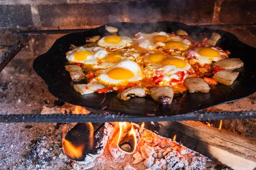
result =
[[[113,68],[125,68],[131,71],[134,76],[130,79],[112,79],[108,76],[107,72]],[[140,66],[131,60],[124,60],[116,63],[111,68],[106,69],[103,71],[98,77],[98,81],[104,85],[122,85],[123,83],[127,82],[137,82],[143,78]]]

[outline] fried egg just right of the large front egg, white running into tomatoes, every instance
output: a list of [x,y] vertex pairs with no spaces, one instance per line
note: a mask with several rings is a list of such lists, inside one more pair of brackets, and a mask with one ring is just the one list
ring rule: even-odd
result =
[[191,65],[188,62],[185,62],[180,56],[163,57],[161,59],[159,59],[157,63],[149,63],[148,66],[142,70],[145,77],[148,79],[157,76],[157,71],[163,71],[164,78],[163,81],[160,82],[160,85],[165,85],[171,79],[180,79],[176,73],[184,71],[186,74],[191,68]]

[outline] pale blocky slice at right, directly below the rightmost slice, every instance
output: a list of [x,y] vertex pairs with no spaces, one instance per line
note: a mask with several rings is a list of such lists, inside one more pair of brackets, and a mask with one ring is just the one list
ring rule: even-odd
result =
[[213,79],[215,79],[217,82],[220,82],[224,85],[232,85],[233,82],[238,77],[239,72],[233,72],[233,71],[218,71],[213,75]]

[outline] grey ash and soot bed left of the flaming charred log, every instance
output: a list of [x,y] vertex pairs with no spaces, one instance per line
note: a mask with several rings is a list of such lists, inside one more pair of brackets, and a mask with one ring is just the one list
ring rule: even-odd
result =
[[62,124],[0,124],[1,170],[72,170],[62,149]]

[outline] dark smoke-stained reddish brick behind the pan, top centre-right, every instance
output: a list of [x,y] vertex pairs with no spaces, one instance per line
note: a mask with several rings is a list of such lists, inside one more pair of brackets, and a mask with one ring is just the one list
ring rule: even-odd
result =
[[178,21],[182,23],[211,23],[214,1],[158,0],[128,2],[125,16],[130,22]]

